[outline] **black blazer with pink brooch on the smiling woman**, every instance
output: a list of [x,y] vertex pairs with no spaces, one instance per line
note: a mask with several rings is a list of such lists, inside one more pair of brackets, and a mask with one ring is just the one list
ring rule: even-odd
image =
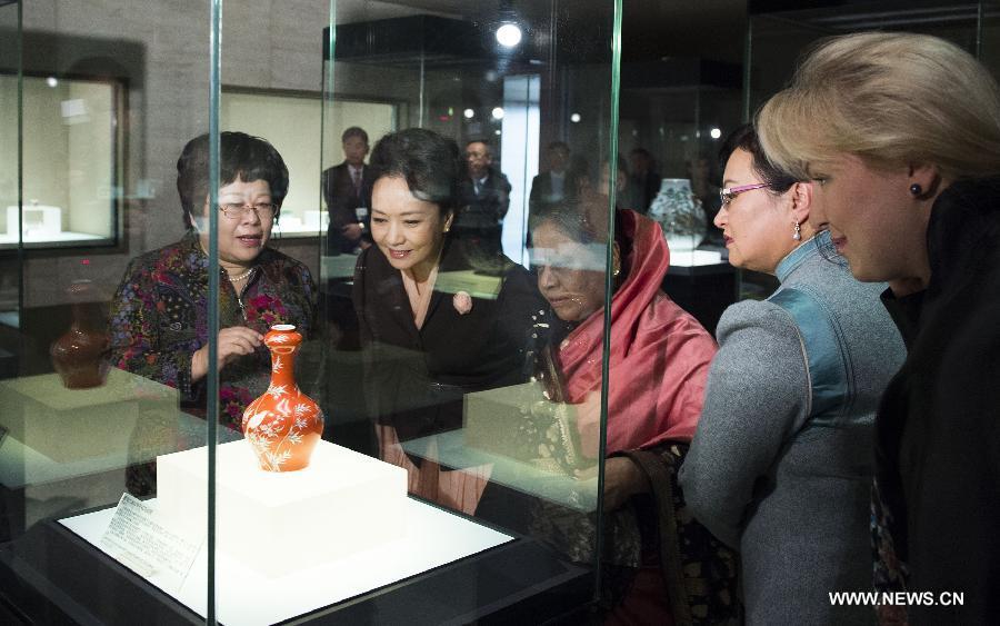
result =
[[[467,269],[446,244],[440,271]],[[533,275],[503,257],[497,299],[473,298],[460,315],[453,296],[434,290],[418,329],[399,270],[372,246],[358,259],[353,302],[366,351],[366,401],[401,441],[462,425],[462,396],[523,382],[537,324],[548,310]]]

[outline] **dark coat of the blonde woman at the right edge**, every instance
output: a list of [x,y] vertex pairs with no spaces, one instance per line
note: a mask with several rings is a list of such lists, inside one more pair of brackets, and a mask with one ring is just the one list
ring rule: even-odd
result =
[[928,288],[883,295],[909,356],[876,423],[876,537],[891,537],[877,546],[876,572],[893,568],[894,546],[907,590],[964,594],[963,606],[911,604],[910,624],[991,624],[1000,616],[1000,178],[946,189],[927,237]]

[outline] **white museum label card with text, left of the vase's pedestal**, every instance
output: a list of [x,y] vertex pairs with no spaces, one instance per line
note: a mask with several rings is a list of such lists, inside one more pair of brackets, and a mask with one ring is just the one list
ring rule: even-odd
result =
[[201,541],[178,535],[153,516],[153,507],[122,494],[101,547],[122,565],[146,578],[157,578],[164,589],[179,590],[191,570]]

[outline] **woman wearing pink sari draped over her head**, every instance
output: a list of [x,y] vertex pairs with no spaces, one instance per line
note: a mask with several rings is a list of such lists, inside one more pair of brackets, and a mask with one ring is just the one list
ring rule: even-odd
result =
[[[580,450],[596,458],[600,441],[600,388],[604,338],[607,235],[588,211],[561,208],[533,226],[539,289],[568,324],[556,336],[542,371],[550,397],[573,405]],[[660,289],[669,251],[654,221],[616,211],[611,348],[608,385],[603,509],[604,559],[612,564],[606,588],[607,623],[712,623],[736,617],[731,554],[703,528],[682,523],[684,504],[676,470],[701,414],[711,336]],[[543,359],[546,360],[546,359]],[[572,516],[569,516],[572,517]],[[580,516],[560,528],[559,517],[537,516],[536,530],[561,538],[571,558],[589,560],[592,534]],[[681,546],[684,546],[681,548]],[[721,554],[720,553],[726,553]],[[700,572],[684,568],[697,562]],[[723,572],[728,569],[728,572]],[[698,578],[698,582],[686,577]],[[726,592],[731,592],[727,604]],[[697,607],[697,608],[696,608]]]

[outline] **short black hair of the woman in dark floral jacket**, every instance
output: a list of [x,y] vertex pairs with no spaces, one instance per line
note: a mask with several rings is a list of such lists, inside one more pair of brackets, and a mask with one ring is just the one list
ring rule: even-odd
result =
[[[246,132],[226,131],[219,136],[219,186],[236,179],[244,182],[263,180],[271,191],[271,201],[281,212],[288,196],[288,167],[278,150],[267,139]],[[186,228],[194,227],[193,215],[209,193],[209,136],[199,135],[188,141],[177,160],[177,192]]]

